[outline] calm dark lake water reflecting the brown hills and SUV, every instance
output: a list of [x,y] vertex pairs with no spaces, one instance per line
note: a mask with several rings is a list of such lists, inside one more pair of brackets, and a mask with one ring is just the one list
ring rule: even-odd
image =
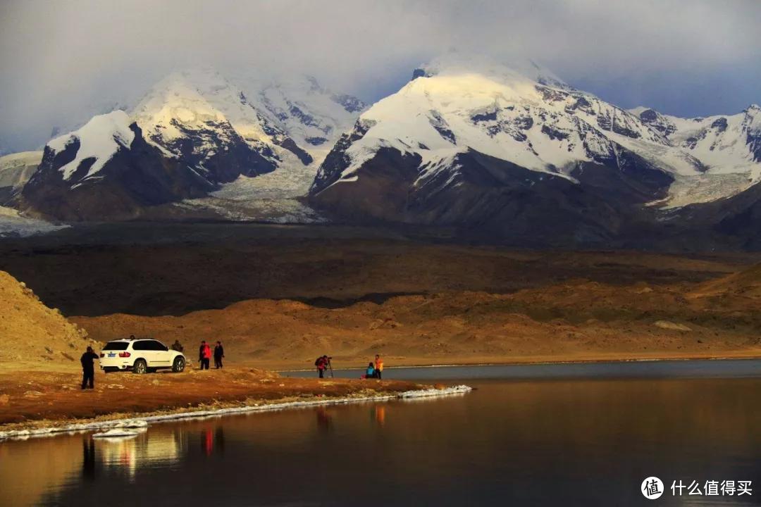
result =
[[[604,379],[468,368],[476,391],[451,398],[5,442],[0,505],[761,505],[761,362],[711,363]],[[639,493],[648,476],[660,499]],[[754,494],[673,497],[673,480]]]

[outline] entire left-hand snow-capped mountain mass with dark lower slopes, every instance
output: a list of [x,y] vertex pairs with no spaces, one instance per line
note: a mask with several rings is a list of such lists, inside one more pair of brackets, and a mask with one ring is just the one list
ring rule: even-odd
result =
[[[298,180],[296,186],[303,188],[317,170],[317,164],[310,165],[314,156],[325,154],[307,138],[319,131],[327,143],[334,141],[362,106],[311,78],[288,85],[268,82],[266,87],[251,80],[244,86],[251,91],[213,69],[170,74],[129,112],[95,116],[75,132],[49,141],[40,170],[24,191],[24,204],[46,216],[99,220],[134,217],[145,206],[204,197],[225,185],[252,188],[237,181],[241,176],[278,171],[288,174],[273,182]],[[288,106],[287,111],[280,106]],[[117,191],[118,186],[123,188]],[[100,187],[109,192],[92,192]],[[113,199],[114,192],[119,199]]]

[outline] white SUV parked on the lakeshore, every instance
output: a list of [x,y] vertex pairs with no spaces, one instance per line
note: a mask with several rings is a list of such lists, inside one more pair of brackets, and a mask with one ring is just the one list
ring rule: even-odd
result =
[[183,353],[170,350],[161,341],[151,338],[110,341],[100,351],[103,372],[131,369],[135,373],[145,373],[160,368],[181,372],[185,363]]

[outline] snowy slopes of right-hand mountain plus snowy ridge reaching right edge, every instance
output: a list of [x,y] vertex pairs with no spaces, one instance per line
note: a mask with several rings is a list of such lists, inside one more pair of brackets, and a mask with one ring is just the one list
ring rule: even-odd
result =
[[574,182],[585,163],[629,170],[633,154],[673,179],[661,204],[711,201],[761,180],[759,112],[753,105],[736,115],[683,119],[645,106],[627,111],[533,62],[451,53],[365,111],[326,159],[313,191],[354,181],[385,148],[420,160],[416,185],[454,181],[434,176],[454,178],[452,161],[467,151]]

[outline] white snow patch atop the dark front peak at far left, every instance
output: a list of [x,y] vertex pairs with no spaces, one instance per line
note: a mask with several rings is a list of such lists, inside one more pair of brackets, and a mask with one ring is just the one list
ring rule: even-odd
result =
[[49,141],[47,147],[56,154],[73,144],[79,144],[74,160],[59,169],[63,173],[63,179],[70,179],[80,163],[88,159],[94,159],[94,162],[91,163],[88,173],[80,179],[89,178],[100,171],[120,147],[129,147],[132,144],[135,132],[129,128],[131,124],[129,115],[117,110],[94,116],[75,132]]

